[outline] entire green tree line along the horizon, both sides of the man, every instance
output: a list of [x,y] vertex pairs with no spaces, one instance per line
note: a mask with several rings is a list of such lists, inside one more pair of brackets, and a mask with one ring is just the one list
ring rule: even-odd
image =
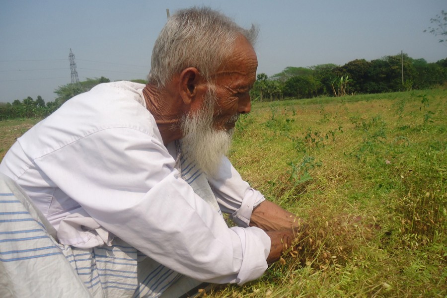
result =
[[[142,79],[133,81],[146,83]],[[0,120],[46,117],[73,96],[103,82],[110,80],[101,76],[59,86],[54,91],[57,98],[46,103],[41,96],[36,99],[28,96],[12,103],[0,103]],[[372,61],[356,59],[343,66],[321,64],[308,68],[287,67],[270,77],[267,74],[258,74],[250,95],[253,100],[266,101],[395,92],[445,84],[447,58],[436,63],[427,63],[424,59],[413,59],[407,54],[400,54]]]

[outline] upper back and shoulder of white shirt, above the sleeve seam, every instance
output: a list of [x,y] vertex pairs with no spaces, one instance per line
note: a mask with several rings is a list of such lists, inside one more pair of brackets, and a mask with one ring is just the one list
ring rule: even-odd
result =
[[114,128],[160,139],[155,119],[141,102],[144,86],[125,81],[99,84],[69,99],[19,142],[25,152],[37,157]]

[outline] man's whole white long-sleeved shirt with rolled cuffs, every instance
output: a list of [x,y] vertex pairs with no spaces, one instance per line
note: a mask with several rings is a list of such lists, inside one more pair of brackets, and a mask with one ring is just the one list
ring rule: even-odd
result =
[[228,228],[181,179],[143,88],[113,82],[75,96],[19,138],[0,171],[27,192],[63,244],[95,247],[116,235],[197,280],[260,277],[270,238],[246,226],[264,197],[225,158],[209,183],[222,211],[245,226]]

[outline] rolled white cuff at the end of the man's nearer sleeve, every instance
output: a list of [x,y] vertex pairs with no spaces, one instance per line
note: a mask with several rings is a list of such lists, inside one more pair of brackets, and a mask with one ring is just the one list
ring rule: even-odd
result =
[[231,228],[240,238],[242,245],[242,265],[236,283],[242,286],[255,280],[267,270],[267,257],[270,253],[270,237],[262,229],[252,226]]

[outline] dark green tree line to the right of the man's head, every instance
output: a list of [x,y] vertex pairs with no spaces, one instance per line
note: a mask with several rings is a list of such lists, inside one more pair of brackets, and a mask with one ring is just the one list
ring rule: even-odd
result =
[[287,67],[270,77],[258,74],[251,96],[260,101],[344,96],[426,89],[446,82],[447,59],[428,63],[402,53],[372,61],[356,59],[343,66]]

